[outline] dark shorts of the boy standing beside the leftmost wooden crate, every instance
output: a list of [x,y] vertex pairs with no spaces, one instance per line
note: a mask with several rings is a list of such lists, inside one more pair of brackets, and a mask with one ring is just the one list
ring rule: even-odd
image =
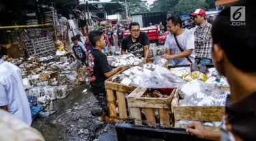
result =
[[108,109],[107,100],[106,100],[106,92],[93,93],[93,94],[95,98],[98,100],[106,116],[109,117],[109,109]]

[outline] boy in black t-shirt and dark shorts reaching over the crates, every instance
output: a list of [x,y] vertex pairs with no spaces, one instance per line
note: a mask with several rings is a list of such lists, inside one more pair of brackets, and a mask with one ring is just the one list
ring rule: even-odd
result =
[[112,68],[106,58],[106,55],[102,53],[102,49],[106,46],[102,31],[91,31],[89,33],[89,41],[94,49],[88,55],[88,68],[90,71],[90,84],[91,92],[102,106],[103,113],[100,117],[100,121],[109,122],[109,112],[106,102],[106,92],[104,81],[115,75],[118,71],[121,71],[125,66],[119,66]]

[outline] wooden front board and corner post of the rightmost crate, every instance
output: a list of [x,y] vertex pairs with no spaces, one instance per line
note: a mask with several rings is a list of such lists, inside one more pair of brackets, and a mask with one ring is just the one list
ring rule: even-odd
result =
[[171,104],[175,121],[221,121],[225,106],[180,106],[180,96],[175,92]]

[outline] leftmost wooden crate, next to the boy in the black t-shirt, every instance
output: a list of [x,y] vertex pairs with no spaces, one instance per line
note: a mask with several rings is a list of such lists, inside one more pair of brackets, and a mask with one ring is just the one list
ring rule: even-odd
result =
[[[128,68],[129,67],[124,68],[122,71],[119,71],[116,75],[122,74],[124,71],[128,70]],[[130,94],[136,87],[111,82],[113,77],[115,77],[115,75],[110,77],[109,79],[106,79],[104,83],[106,89],[106,98],[108,100],[109,105],[109,115],[111,117],[111,121],[117,122],[128,117],[126,108],[126,98],[124,94]],[[116,98],[118,101],[119,117],[117,117],[117,112],[115,110],[117,108]]]

